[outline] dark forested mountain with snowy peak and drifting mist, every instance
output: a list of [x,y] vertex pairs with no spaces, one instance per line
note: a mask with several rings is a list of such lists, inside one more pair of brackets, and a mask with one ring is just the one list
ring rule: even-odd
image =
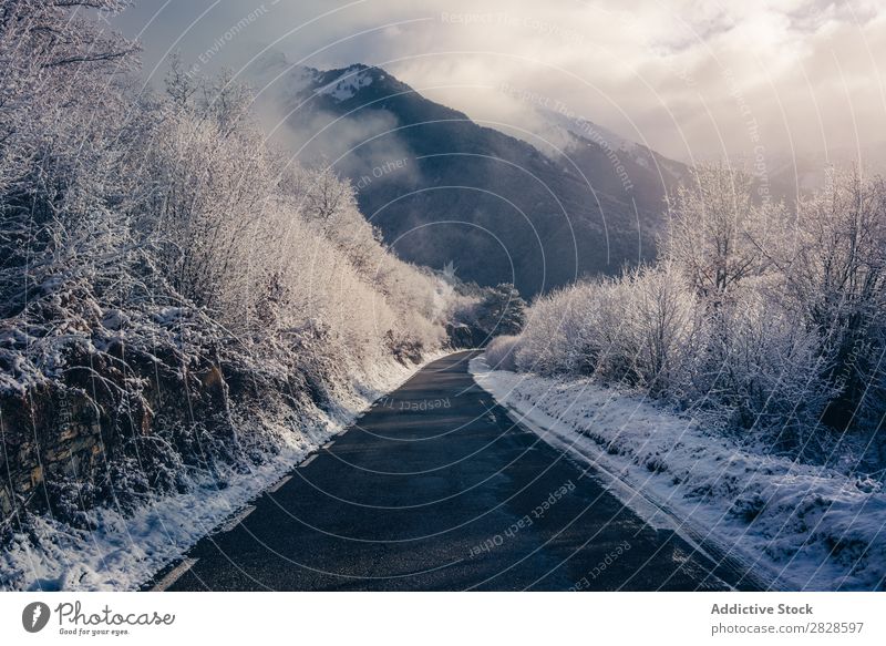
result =
[[402,258],[524,296],[655,255],[663,196],[686,168],[550,115],[558,153],[484,127],[380,68],[255,71],[269,130],[299,161],[351,178]]

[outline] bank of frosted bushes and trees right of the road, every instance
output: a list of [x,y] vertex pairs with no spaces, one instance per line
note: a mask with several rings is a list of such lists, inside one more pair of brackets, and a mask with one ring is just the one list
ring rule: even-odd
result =
[[699,168],[672,205],[659,265],[536,299],[507,340],[516,367],[639,389],[792,448],[822,423],[875,429],[886,186],[837,174],[795,218],[749,191],[725,166]]

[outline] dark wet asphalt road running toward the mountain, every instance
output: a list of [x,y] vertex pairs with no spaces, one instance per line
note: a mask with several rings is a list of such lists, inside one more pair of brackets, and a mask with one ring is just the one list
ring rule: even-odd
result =
[[154,584],[178,591],[729,587],[729,567],[673,532],[653,530],[593,472],[515,425],[467,373],[470,357],[451,355],[421,370],[255,501],[239,524],[204,539]]

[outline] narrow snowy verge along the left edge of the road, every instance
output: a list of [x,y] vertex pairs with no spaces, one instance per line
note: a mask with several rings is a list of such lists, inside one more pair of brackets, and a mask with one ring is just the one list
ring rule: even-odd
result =
[[375,399],[445,353],[433,353],[413,367],[394,360],[385,362],[365,376],[359,392],[354,389],[339,393],[333,413],[317,411],[316,419],[305,427],[262,420],[280,439],[279,452],[246,473],[235,465],[220,466],[215,474],[199,473],[187,493],[152,496],[134,514],[97,507],[90,512],[96,527],[93,531],[37,516],[33,523],[40,548],[35,550],[25,535],[14,536],[9,548],[0,552],[0,572],[10,574],[12,581],[19,582],[14,588],[21,589],[137,589],[331,437],[347,429]]

